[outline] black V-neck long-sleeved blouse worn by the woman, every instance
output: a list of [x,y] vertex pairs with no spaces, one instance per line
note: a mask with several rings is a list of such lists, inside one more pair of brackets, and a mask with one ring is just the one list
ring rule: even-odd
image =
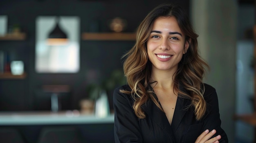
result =
[[131,95],[119,92],[119,89],[131,90],[129,86],[116,88],[113,94],[115,110],[116,143],[194,143],[197,137],[209,129],[215,129],[214,136],[221,135],[220,143],[228,143],[227,135],[220,127],[218,97],[215,88],[204,84],[204,99],[207,112],[197,121],[189,99],[177,98],[171,125],[164,112],[152,100],[142,106],[145,119],[138,119],[132,109],[134,99]]

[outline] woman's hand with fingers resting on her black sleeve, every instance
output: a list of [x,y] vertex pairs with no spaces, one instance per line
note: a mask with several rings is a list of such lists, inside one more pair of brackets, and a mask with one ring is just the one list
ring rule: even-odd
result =
[[219,143],[219,140],[221,138],[220,135],[215,136],[211,139],[211,137],[216,133],[216,130],[212,130],[209,132],[209,130],[205,130],[198,138],[196,139],[195,143]]

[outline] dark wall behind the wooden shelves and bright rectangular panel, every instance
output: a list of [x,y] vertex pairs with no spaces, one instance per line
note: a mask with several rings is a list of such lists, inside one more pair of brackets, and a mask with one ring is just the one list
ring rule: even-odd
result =
[[[56,4],[58,2],[58,4]],[[74,74],[39,74],[35,71],[35,20],[37,16],[79,16],[81,33],[90,31],[97,22],[99,32],[110,32],[108,20],[121,17],[127,20],[124,32],[134,32],[146,14],[160,3],[175,2],[189,11],[189,0],[1,0],[0,15],[8,16],[8,24],[20,24],[27,33],[24,41],[0,41],[0,50],[10,55],[10,61],[25,63],[25,79],[0,79],[0,110],[35,110],[35,92],[42,85],[67,84],[72,89],[70,109],[79,109],[79,100],[88,97],[85,88],[101,83],[112,70],[122,68],[121,55],[134,41],[80,42],[80,70]],[[92,74],[93,73],[93,74]],[[110,108],[112,107],[112,95]]]

